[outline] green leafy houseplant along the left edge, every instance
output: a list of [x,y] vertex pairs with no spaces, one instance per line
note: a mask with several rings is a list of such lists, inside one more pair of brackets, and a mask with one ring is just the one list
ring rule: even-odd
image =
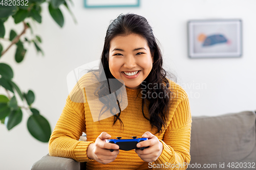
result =
[[[0,60],[10,49],[16,45],[15,61],[20,63],[26,56],[27,49],[24,43],[33,44],[37,53],[44,55],[44,52],[39,47],[41,38],[33,34],[30,22],[41,23],[41,5],[48,3],[48,10],[52,18],[56,21],[59,27],[63,26],[64,18],[59,6],[65,6],[72,15],[75,23],[76,19],[70,11],[67,0],[0,0]],[[69,3],[72,3],[69,0]],[[4,22],[9,17],[13,17],[15,24],[23,23],[24,29],[20,33],[16,33],[14,29],[8,31],[5,29]],[[30,29],[33,39],[22,38],[26,35],[26,30]],[[9,41],[10,44],[4,49],[1,41]],[[51,127],[48,120],[40,114],[40,112],[32,106],[35,100],[35,94],[32,90],[22,92],[16,83],[13,82],[13,70],[7,63],[0,62],[0,88],[3,88],[5,94],[0,94],[0,120],[8,130],[18,125],[22,121],[23,111],[26,110],[30,114],[27,120],[27,128],[30,134],[37,140],[48,142],[51,135]],[[17,102],[17,98],[20,101]],[[21,104],[20,104],[21,103]]]

